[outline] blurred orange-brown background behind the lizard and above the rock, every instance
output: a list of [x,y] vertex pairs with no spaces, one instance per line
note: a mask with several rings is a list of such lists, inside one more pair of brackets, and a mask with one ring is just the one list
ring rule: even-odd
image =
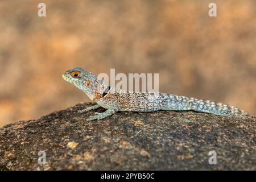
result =
[[159,73],[160,92],[256,114],[255,34],[254,0],[1,1],[0,126],[89,101],[61,77],[76,66]]

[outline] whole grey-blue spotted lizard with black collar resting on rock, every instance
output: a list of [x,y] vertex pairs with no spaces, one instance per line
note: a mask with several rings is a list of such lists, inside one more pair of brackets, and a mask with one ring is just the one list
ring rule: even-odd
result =
[[104,119],[117,111],[193,110],[225,116],[248,115],[248,113],[238,107],[222,104],[221,102],[217,103],[160,92],[131,92],[115,89],[105,84],[104,81],[93,73],[79,67],[69,69],[62,76],[65,81],[75,85],[76,88],[85,92],[90,100],[97,103],[96,105],[79,110],[80,114],[99,107],[107,109],[102,113],[95,112],[86,121]]

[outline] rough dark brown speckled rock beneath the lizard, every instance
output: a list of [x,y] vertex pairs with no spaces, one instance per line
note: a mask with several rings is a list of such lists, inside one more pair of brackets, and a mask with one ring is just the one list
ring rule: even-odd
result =
[[[86,122],[77,104],[0,129],[0,169],[256,169],[256,117],[118,112]],[[104,111],[105,109],[96,109]],[[45,165],[38,152],[46,151]],[[209,165],[209,151],[217,165]]]

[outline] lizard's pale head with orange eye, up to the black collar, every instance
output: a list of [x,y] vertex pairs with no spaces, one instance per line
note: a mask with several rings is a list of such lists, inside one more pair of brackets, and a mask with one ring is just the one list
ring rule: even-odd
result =
[[96,75],[79,67],[67,70],[62,77],[65,81],[85,92],[91,100],[97,98],[107,87]]

